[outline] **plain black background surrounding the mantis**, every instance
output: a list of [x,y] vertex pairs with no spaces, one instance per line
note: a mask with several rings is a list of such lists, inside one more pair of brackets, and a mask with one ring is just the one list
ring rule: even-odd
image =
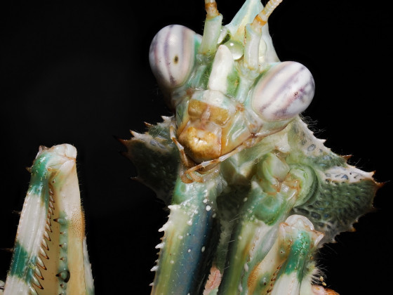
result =
[[[186,2],[186,4],[185,4]],[[386,1],[388,2],[388,1]],[[265,3],[265,1],[264,1]],[[371,4],[371,1],[368,1]],[[341,294],[389,288],[393,176],[392,32],[385,2],[286,0],[269,20],[281,60],[314,74],[305,112],[319,138],[387,182],[375,213],[322,249],[328,286]],[[229,22],[242,1],[218,1]],[[39,145],[78,150],[96,294],[149,294],[164,205],[129,178],[135,169],[115,137],[169,115],[149,70],[154,34],[181,24],[201,33],[204,1],[8,1],[1,4],[0,247],[12,247]],[[0,252],[5,279],[11,254]],[[384,270],[387,265],[388,270]]]

